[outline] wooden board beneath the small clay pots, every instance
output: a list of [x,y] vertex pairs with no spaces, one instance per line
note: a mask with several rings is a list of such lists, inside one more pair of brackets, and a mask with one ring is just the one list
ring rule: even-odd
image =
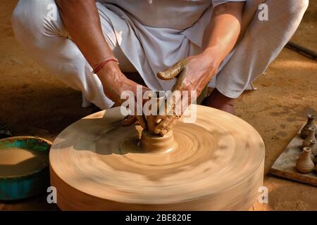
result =
[[317,173],[314,170],[309,174],[301,174],[296,169],[296,162],[302,152],[303,139],[300,136],[300,130],[294,139],[290,141],[285,150],[271,167],[271,174],[282,178],[299,181],[305,184],[317,186]]

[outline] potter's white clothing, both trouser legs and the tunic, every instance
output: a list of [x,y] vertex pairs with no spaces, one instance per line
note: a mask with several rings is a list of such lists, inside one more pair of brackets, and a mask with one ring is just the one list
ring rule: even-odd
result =
[[[99,0],[104,37],[123,72],[139,72],[152,90],[170,90],[175,80],[156,73],[201,52],[201,40],[213,8],[246,0]],[[247,4],[254,0],[247,0]],[[263,0],[264,1],[264,0]],[[246,34],[220,65],[209,86],[237,98],[287,44],[308,7],[308,0],[265,0],[268,21],[255,13]],[[15,37],[27,53],[101,109],[113,102],[73,43],[54,0],[20,0],[12,16]]]

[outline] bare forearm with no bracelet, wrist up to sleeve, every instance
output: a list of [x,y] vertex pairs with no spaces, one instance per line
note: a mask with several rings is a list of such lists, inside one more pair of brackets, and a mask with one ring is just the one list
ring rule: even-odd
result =
[[232,2],[216,6],[206,27],[203,49],[213,63],[220,65],[235,46],[241,30],[243,2]]

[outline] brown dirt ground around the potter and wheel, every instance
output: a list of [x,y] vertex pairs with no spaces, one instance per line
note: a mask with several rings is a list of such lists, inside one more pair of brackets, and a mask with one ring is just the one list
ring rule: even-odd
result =
[[[92,113],[81,108],[81,94],[59,82],[35,64],[15,41],[10,17],[15,0],[0,1],[0,121],[13,134],[41,136],[51,141],[69,124]],[[317,51],[317,1],[293,41]],[[255,127],[266,144],[264,186],[268,204],[251,210],[317,210],[317,188],[269,174],[287,143],[305,122],[305,113],[317,110],[317,63],[290,49],[237,100],[237,115]],[[0,203],[0,210],[57,210],[46,196],[22,202]]]

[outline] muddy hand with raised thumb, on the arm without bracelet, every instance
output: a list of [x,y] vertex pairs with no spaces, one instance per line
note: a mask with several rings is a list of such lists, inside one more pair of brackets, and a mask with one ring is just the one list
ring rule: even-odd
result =
[[[182,101],[183,92],[188,91],[189,101],[191,91],[197,91],[197,97],[201,94],[201,91],[209,83],[213,75],[218,70],[218,64],[209,53],[201,53],[197,56],[190,56],[181,60],[173,65],[173,67],[158,73],[160,79],[168,80],[178,77],[178,80],[173,86],[172,93],[174,91],[180,91]],[[192,102],[189,102],[190,105]],[[166,103],[167,104],[167,103]],[[170,101],[170,105],[165,105],[168,115],[158,115],[155,119],[156,127],[154,129],[155,134],[165,135],[177,122],[186,108],[181,108],[180,113],[175,113],[175,101]]]

